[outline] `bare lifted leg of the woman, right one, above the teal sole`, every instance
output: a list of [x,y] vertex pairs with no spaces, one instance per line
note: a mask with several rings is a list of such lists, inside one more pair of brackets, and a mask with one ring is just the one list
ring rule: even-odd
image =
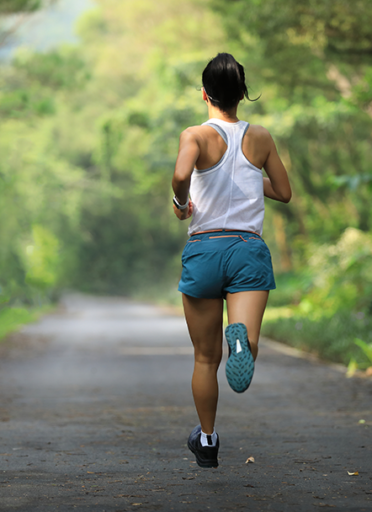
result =
[[228,293],[226,297],[229,324],[243,323],[248,332],[253,358],[257,358],[258,338],[266,308],[268,291]]

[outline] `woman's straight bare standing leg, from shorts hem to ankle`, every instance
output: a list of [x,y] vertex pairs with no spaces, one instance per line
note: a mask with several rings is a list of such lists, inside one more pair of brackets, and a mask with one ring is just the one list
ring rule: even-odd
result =
[[212,434],[218,402],[217,370],[222,358],[222,299],[182,295],[195,365],[192,393],[202,431]]

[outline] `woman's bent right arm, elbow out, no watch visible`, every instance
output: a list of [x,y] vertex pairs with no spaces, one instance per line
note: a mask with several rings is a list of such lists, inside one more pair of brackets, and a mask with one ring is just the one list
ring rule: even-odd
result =
[[269,154],[263,166],[268,175],[268,178],[263,179],[264,195],[270,199],[281,201],[282,203],[289,203],[292,197],[292,191],[287,171],[280,160],[275,143],[269,132],[267,132],[266,136],[269,145]]

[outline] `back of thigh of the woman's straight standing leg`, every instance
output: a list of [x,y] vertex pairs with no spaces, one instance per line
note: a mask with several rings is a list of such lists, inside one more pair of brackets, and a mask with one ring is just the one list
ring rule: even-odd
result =
[[223,299],[199,299],[182,294],[195,358],[219,363],[222,356]]

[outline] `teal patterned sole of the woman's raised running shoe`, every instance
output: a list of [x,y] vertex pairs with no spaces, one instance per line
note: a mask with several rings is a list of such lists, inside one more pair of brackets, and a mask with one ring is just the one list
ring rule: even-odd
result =
[[226,363],[227,382],[233,391],[243,393],[252,382],[254,373],[254,359],[248,341],[247,329],[241,323],[230,324],[226,327],[225,336],[230,348],[230,355]]

